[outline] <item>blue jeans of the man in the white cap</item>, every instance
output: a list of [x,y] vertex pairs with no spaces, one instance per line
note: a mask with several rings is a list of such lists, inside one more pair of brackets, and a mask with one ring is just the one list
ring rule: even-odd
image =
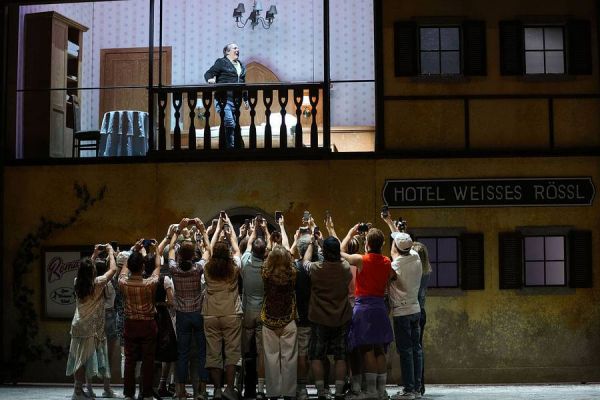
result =
[[394,317],[396,349],[400,355],[404,391],[421,389],[423,350],[421,348],[421,313]]

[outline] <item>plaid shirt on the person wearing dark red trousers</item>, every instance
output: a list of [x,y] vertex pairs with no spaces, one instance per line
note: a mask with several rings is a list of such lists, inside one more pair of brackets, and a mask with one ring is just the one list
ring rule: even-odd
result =
[[141,276],[119,275],[119,288],[123,293],[126,319],[152,320],[156,314],[154,296],[158,284],[158,274],[149,278]]

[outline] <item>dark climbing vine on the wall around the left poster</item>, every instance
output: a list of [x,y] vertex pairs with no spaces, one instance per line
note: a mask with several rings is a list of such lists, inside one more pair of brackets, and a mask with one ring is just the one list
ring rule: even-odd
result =
[[32,361],[62,359],[66,356],[68,349],[61,345],[52,343],[49,337],[40,339],[39,318],[32,302],[33,289],[23,284],[24,277],[31,272],[34,262],[41,257],[41,246],[53,233],[71,227],[81,215],[92,207],[96,202],[102,200],[106,193],[106,185],[100,188],[92,196],[87,185],[75,182],[73,185],[75,196],[79,205],[65,221],[58,222],[41,217],[37,228],[27,234],[19,244],[13,267],[13,305],[16,315],[14,324],[16,332],[11,341],[9,365],[4,370],[7,372],[5,378],[17,382],[23,375],[27,364]]

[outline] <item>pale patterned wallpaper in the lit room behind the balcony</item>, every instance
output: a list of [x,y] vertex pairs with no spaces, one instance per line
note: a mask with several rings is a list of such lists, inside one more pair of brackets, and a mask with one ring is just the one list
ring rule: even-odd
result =
[[[282,81],[323,79],[321,0],[263,0],[265,10],[275,4],[278,14],[271,29],[259,26],[254,31],[249,25],[235,26],[232,12],[240,1],[164,0],[163,45],[172,47],[173,84],[204,83],[204,72],[233,41],[240,46],[243,62],[261,62]],[[248,16],[252,2],[244,4]],[[83,87],[100,85],[100,49],[148,46],[148,0],[25,6],[20,9],[21,22],[27,13],[48,10],[90,28],[83,39]],[[330,47],[332,80],[374,79],[372,0],[330,0]],[[98,127],[98,92],[82,95],[83,128]],[[332,124],[374,125],[374,106],[357,112],[364,104],[374,105],[374,98],[373,83],[334,84]]]

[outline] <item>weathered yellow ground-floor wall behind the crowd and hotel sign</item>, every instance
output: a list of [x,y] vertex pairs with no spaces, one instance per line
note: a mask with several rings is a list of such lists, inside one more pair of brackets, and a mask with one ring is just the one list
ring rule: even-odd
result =
[[[41,217],[62,221],[77,206],[74,182],[92,193],[107,185],[105,198],[45,246],[85,245],[139,237],[162,237],[182,216],[208,220],[220,209],[283,210],[288,233],[305,209],[317,219],[330,210],[339,235],[353,223],[378,215],[385,179],[591,176],[600,182],[598,158],[347,160],[132,165],[31,166],[5,169],[5,304],[10,304],[11,263],[18,244]],[[411,228],[462,227],[482,232],[485,290],[431,290],[425,332],[427,381],[541,382],[600,379],[600,209],[511,207],[392,210]],[[520,226],[569,225],[593,232],[592,289],[498,289],[498,232]],[[26,284],[41,314],[41,270],[33,265]],[[14,310],[7,309],[10,332]],[[40,323],[43,333],[67,344],[69,322]],[[6,350],[9,350],[5,347]],[[390,381],[399,362],[390,353]],[[64,380],[65,363],[31,366],[36,380]]]

